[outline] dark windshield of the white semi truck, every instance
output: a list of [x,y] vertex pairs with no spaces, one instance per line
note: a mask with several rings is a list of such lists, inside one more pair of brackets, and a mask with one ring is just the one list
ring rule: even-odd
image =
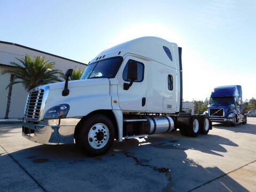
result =
[[80,79],[114,78],[123,61],[122,57],[114,57],[91,63],[85,68]]

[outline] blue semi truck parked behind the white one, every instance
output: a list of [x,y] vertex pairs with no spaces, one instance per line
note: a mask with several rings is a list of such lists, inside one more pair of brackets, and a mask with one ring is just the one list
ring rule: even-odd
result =
[[211,94],[207,114],[212,122],[236,125],[247,122],[243,113],[242,87],[218,86]]

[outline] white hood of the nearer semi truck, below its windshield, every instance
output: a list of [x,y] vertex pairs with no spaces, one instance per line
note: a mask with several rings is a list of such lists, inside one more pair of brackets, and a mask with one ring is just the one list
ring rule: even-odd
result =
[[48,92],[46,91],[44,113],[51,107],[63,103],[68,104],[70,107],[67,117],[80,117],[85,116],[90,111],[111,109],[108,78],[69,81],[69,94],[66,96],[62,95],[65,82],[42,85],[42,88],[43,86],[45,90],[47,90],[47,87],[49,89]]

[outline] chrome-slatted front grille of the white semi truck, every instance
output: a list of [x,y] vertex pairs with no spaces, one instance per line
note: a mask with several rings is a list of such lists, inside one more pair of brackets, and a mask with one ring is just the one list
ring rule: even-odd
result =
[[40,110],[43,102],[44,90],[31,91],[28,94],[25,107],[25,118],[37,120],[40,115]]

